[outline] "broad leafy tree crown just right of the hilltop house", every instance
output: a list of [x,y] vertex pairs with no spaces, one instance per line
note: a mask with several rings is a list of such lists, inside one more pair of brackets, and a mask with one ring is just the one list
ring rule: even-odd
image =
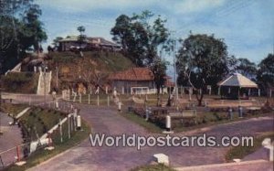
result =
[[136,65],[150,66],[169,38],[165,23],[166,20],[161,16],[155,18],[150,11],[143,11],[141,15],[121,15],[111,28],[112,39]]

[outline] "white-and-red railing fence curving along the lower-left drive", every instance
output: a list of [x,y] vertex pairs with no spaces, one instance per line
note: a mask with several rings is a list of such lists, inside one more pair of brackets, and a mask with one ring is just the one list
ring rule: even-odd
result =
[[[21,102],[29,104],[29,102]],[[49,108],[56,108],[56,102],[31,102],[31,105],[42,106]],[[28,142],[26,144],[18,144],[17,146],[0,152],[0,170],[6,166],[10,166],[37,150],[44,150],[47,145],[62,144],[77,132],[79,125],[77,125],[78,110],[71,108],[70,102],[59,102],[58,111],[71,112],[64,118],[60,119],[59,122],[47,131],[47,134],[39,136],[35,141]],[[73,112],[72,112],[72,111]]]

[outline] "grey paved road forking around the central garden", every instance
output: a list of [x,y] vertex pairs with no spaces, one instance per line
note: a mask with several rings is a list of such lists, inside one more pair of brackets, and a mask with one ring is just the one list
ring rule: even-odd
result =
[[[93,133],[148,134],[142,127],[121,117],[115,109],[80,106],[80,114],[92,126]],[[273,118],[259,118],[216,126],[205,134],[216,135],[254,135],[274,129]],[[184,134],[178,134],[184,135]],[[86,140],[67,152],[36,166],[30,170],[129,170],[132,167],[149,164],[152,155],[169,155],[172,166],[196,166],[224,162],[225,147],[91,147]]]

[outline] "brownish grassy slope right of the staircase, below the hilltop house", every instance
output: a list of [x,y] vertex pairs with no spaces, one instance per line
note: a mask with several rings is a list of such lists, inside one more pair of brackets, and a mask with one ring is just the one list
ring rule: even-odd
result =
[[[65,89],[80,81],[107,84],[107,78],[113,72],[129,69],[132,61],[118,52],[83,52],[83,56],[74,52],[52,52],[48,55],[47,66],[53,71],[52,88]],[[57,72],[58,69],[58,72]]]

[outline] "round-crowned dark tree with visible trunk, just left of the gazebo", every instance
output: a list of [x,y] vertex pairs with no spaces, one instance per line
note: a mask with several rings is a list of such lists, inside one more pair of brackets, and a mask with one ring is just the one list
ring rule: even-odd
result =
[[198,91],[198,105],[202,104],[206,85],[216,86],[229,72],[227,45],[214,35],[190,35],[182,41],[176,58],[179,79],[183,76]]

